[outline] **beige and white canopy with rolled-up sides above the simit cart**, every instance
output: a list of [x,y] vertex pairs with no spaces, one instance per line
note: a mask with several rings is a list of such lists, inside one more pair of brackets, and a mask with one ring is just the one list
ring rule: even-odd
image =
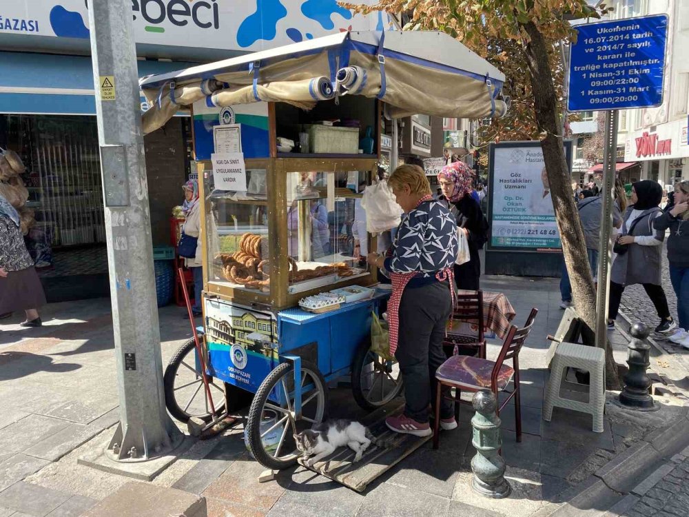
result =
[[146,77],[144,131],[195,101],[286,102],[309,109],[338,95],[378,98],[393,116],[504,116],[504,75],[443,32],[342,32],[179,72]]

